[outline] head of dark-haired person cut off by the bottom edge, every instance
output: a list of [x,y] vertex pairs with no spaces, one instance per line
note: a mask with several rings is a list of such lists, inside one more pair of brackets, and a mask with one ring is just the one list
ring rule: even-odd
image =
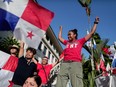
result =
[[23,87],[40,87],[41,83],[40,76],[28,77],[23,84]]

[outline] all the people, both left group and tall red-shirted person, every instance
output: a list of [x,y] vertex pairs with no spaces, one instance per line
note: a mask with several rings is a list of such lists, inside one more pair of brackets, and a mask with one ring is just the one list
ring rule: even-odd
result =
[[[83,70],[81,49],[96,31],[99,18],[96,17],[91,32],[85,37],[78,39],[77,29],[69,30],[68,40],[62,38],[62,26],[58,35],[59,41],[66,45],[63,50],[63,62],[57,76],[56,87],[66,87],[70,79],[72,87],[83,87]],[[48,58],[42,58],[42,63],[35,59],[36,50],[32,47],[26,49],[24,55],[24,42],[20,42],[20,47],[13,45],[10,47],[10,54],[18,57],[18,65],[12,78],[12,85],[9,87],[48,87],[50,70],[60,61],[60,58],[53,64],[48,64]]]

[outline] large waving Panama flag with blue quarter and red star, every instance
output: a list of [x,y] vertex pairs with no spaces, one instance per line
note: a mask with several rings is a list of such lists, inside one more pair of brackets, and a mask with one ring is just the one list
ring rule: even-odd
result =
[[0,0],[0,30],[12,30],[17,39],[34,48],[38,48],[53,17],[53,12],[34,0]]

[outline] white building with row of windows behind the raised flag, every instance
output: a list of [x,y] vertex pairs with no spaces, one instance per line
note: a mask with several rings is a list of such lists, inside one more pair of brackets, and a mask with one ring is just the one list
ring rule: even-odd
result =
[[37,52],[37,57],[40,61],[41,58],[47,56],[49,58],[49,63],[54,63],[62,52],[62,47],[54,34],[51,27],[49,27],[42,39]]

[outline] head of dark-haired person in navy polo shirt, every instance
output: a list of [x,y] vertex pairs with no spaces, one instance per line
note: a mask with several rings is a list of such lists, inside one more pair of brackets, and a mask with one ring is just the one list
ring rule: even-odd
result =
[[32,47],[28,47],[26,49],[26,54],[25,57],[27,59],[32,59],[34,57],[34,55],[36,54],[36,49],[32,48]]

